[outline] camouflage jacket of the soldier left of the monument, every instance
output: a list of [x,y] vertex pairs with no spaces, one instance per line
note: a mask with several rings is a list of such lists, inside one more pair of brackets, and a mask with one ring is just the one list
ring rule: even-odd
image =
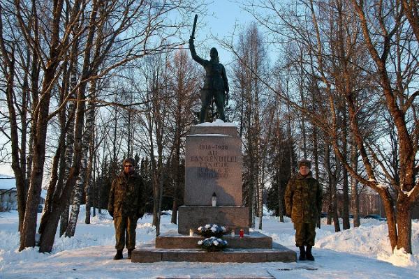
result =
[[108,203],[109,213],[114,218],[119,216],[142,217],[145,212],[144,192],[144,183],[136,172],[129,176],[121,172],[112,181]]

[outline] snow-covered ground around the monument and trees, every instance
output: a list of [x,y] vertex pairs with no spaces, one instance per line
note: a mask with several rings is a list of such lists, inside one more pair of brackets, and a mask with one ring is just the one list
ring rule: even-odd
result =
[[[41,213],[38,214],[38,219]],[[296,263],[131,263],[112,260],[115,236],[107,211],[84,224],[84,211],[75,236],[58,238],[51,254],[36,248],[17,252],[17,212],[0,213],[0,278],[419,278],[419,223],[412,224],[413,256],[391,253],[386,223],[362,220],[358,228],[334,232],[325,225],[317,230],[315,262]],[[152,216],[138,221],[137,247],[154,240]],[[161,232],[177,230],[163,216]],[[293,224],[287,219],[263,218],[263,232],[281,245],[297,251]],[[126,250],[124,250],[126,257]]]

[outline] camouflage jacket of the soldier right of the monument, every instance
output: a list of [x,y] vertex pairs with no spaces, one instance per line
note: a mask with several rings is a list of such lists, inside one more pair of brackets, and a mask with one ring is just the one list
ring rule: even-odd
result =
[[293,223],[316,223],[321,212],[323,190],[311,172],[293,176],[285,191],[286,213]]

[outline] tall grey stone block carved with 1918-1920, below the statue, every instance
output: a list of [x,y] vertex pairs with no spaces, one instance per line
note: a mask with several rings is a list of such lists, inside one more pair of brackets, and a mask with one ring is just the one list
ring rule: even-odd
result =
[[242,150],[239,137],[188,135],[185,154],[184,204],[242,205]]

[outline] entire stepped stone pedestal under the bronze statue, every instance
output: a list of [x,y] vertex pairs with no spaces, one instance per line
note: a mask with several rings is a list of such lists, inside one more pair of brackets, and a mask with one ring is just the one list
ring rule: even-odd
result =
[[[251,232],[249,208],[242,205],[242,148],[233,123],[200,124],[186,136],[184,206],[178,209],[177,232],[133,250],[131,262],[295,262],[297,253]],[[214,195],[215,194],[215,195]],[[210,206],[212,199],[218,206]],[[228,244],[220,252],[198,248],[197,229],[226,227]],[[244,237],[240,238],[240,230]],[[231,232],[235,232],[235,236]],[[194,232],[196,235],[190,236]]]

